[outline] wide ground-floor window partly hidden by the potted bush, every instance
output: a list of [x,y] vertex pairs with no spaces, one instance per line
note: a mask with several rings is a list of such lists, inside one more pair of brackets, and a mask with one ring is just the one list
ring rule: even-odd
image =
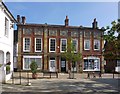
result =
[[38,65],[38,69],[42,69],[42,56],[24,56],[23,57],[23,69],[30,69],[30,64],[35,61]]

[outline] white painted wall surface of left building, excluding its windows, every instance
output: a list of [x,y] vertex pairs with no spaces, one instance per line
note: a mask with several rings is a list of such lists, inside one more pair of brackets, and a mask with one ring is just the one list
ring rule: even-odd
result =
[[[0,2],[0,5],[1,2]],[[4,52],[3,64],[6,64],[6,53],[10,53],[10,71],[13,71],[13,33],[14,29],[11,28],[12,21],[10,17],[4,12],[4,7],[0,6],[0,50]],[[8,36],[5,36],[5,17],[9,20],[9,33]],[[6,75],[6,67],[2,67],[2,82],[5,82],[10,79],[10,74]]]

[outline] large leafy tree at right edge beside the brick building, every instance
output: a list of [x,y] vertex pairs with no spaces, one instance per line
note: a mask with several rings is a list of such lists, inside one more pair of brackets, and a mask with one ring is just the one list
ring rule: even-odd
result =
[[120,59],[120,19],[107,26],[104,40],[106,41],[104,56],[105,59]]

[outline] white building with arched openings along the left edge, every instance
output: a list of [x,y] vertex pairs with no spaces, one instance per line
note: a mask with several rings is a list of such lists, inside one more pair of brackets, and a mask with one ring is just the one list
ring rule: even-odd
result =
[[[5,4],[0,2],[0,64],[2,65],[0,67],[0,80],[3,83],[11,78],[13,71],[13,34],[15,22],[15,18]],[[8,62],[11,62],[11,64],[6,65]],[[6,72],[6,70],[9,70],[9,72]]]

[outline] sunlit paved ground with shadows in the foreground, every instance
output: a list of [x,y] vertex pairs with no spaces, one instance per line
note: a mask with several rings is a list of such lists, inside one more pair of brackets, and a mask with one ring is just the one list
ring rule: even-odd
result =
[[[102,78],[87,78],[87,74],[75,73],[74,79],[69,74],[59,73],[58,78],[43,77],[32,79],[29,74],[22,73],[21,84],[19,73],[15,73],[14,80],[2,84],[2,94],[120,94],[119,75],[103,74]],[[28,86],[28,82],[31,83]]]

